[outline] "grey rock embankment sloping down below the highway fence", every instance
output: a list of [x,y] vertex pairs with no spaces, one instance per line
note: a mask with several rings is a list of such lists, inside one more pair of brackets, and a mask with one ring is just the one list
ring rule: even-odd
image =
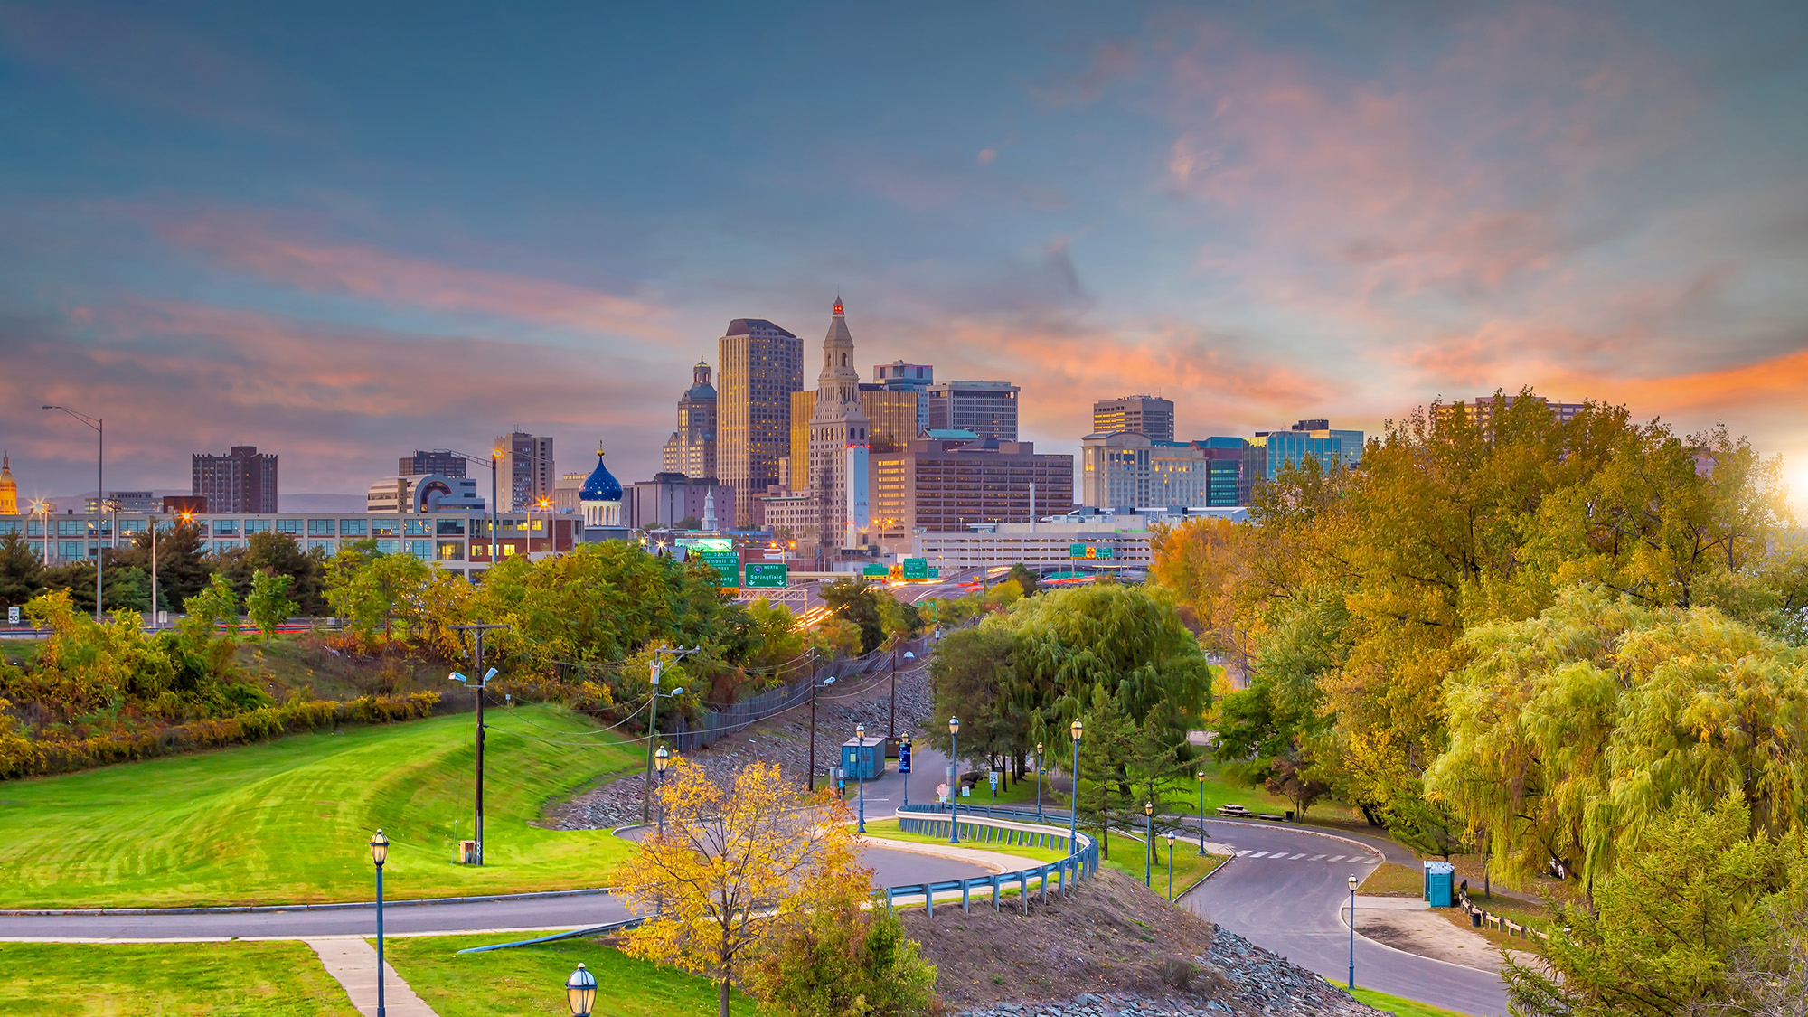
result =
[[[924,670],[899,671],[899,733],[915,731],[929,717],[929,677]],[[824,773],[841,758],[841,744],[853,726],[866,722],[868,737],[886,735],[891,720],[891,684],[884,671],[862,675],[848,689],[823,689],[815,702],[815,771]],[[729,782],[750,762],[777,764],[785,776],[803,780],[810,758],[810,704],[761,720],[692,753],[711,778]],[[541,825],[559,831],[615,829],[640,822],[644,782],[638,773],[591,787],[548,809]]]

